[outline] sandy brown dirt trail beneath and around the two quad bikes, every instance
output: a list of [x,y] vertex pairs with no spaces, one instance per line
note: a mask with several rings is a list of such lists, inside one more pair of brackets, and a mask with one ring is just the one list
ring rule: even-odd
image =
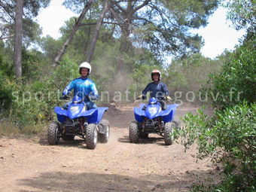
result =
[[[196,108],[181,107],[176,117]],[[84,141],[47,145],[44,136],[0,139],[0,191],[188,191],[194,181],[214,178],[218,171],[208,161],[184,153],[178,143],[163,145],[155,134],[131,144],[128,128],[133,108],[108,111],[111,138],[88,150]]]

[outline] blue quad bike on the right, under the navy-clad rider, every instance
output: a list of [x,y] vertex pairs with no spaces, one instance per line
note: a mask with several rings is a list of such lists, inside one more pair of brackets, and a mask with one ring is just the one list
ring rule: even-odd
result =
[[[163,100],[165,98],[163,97]],[[138,143],[139,139],[147,139],[149,133],[157,133],[163,136],[165,145],[172,145],[174,139],[173,130],[178,129],[180,123],[174,119],[177,104],[167,105],[162,110],[160,102],[152,97],[148,104],[140,104],[134,108],[136,121],[130,123],[129,139],[131,143]]]

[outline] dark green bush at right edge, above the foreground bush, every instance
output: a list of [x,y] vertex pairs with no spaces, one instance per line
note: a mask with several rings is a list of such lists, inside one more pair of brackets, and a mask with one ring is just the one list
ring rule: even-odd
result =
[[208,85],[201,91],[208,94],[214,107],[225,108],[243,100],[256,100],[256,50],[239,47],[224,63],[220,74],[211,74]]

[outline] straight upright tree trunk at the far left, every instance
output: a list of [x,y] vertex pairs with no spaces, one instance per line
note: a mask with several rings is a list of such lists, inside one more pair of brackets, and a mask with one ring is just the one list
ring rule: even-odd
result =
[[15,7],[15,32],[14,32],[14,71],[16,78],[22,76],[21,50],[23,32],[23,0],[16,1]]

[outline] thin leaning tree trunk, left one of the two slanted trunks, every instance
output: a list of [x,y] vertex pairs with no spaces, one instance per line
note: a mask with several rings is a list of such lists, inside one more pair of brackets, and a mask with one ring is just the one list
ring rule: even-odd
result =
[[80,14],[78,20],[76,21],[75,25],[73,26],[73,30],[71,32],[71,34],[69,35],[69,38],[67,39],[67,41],[63,44],[62,49],[59,50],[58,55],[55,57],[54,62],[52,64],[53,67],[56,67],[59,64],[60,59],[62,58],[63,54],[66,52],[67,47],[69,46],[69,43],[72,41],[73,36],[75,35],[75,32],[78,30],[78,27],[81,24],[81,21],[84,18],[84,15],[87,13],[87,11],[90,8],[90,5],[93,3],[94,0],[90,0],[89,2],[87,2],[87,5],[84,6],[84,10],[82,11],[82,13]]

